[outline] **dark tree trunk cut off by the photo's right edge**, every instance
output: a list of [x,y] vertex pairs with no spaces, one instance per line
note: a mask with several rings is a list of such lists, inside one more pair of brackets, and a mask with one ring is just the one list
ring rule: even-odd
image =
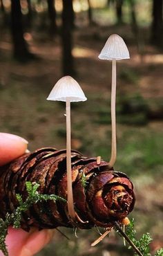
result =
[[163,1],[153,0],[153,22],[151,39],[153,44],[162,46],[163,44]]

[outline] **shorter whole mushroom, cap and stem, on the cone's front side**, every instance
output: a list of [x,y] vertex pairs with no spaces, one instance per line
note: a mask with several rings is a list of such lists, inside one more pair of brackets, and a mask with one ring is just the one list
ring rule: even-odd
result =
[[81,87],[69,75],[61,79],[52,88],[47,100],[59,100],[66,102],[66,167],[67,167],[67,188],[68,188],[68,213],[75,221],[76,212],[73,205],[73,188],[71,174],[71,131],[70,131],[70,102],[87,100]]

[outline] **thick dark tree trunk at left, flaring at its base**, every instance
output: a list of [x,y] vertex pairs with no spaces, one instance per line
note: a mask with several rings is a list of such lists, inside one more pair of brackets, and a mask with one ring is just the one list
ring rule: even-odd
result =
[[19,0],[11,0],[11,32],[13,41],[13,53],[17,60],[25,60],[30,57],[26,41],[23,38],[23,24],[21,5]]

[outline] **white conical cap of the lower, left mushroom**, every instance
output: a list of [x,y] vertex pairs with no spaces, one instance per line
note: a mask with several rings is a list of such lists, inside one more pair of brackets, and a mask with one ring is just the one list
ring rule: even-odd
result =
[[70,102],[78,102],[87,100],[84,92],[73,77],[66,75],[61,77],[59,81],[52,88],[52,91],[48,95],[47,100],[59,100]]

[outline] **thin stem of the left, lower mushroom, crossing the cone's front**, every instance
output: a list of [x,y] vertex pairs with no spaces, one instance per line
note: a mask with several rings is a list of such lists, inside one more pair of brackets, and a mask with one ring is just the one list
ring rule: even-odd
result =
[[66,100],[66,166],[67,166],[67,189],[68,189],[68,213],[72,219],[75,219],[75,210],[73,205],[73,188],[71,172],[71,134],[70,134],[70,100]]

